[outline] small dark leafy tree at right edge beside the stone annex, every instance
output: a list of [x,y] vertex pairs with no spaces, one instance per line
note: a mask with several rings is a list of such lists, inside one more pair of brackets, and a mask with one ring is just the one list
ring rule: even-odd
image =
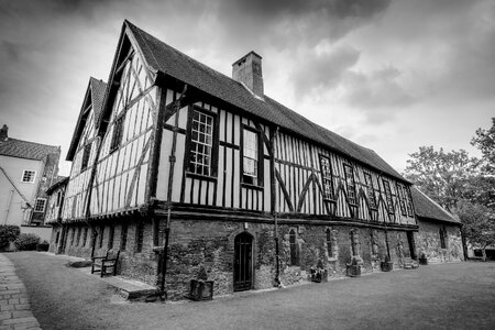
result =
[[462,222],[464,238],[474,246],[482,249],[486,261],[486,246],[495,244],[495,215],[492,209],[468,200],[458,202],[454,210]]

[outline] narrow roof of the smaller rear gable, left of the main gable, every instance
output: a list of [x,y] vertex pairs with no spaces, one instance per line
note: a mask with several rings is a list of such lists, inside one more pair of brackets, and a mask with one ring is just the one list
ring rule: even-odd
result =
[[[77,145],[79,144],[80,134],[82,134],[84,119],[88,116],[84,113],[86,108],[89,106],[88,102],[91,102],[92,111],[95,113],[95,127],[98,125],[98,120],[100,118],[101,109],[103,107],[105,92],[107,90],[107,84],[102,80],[96,79],[94,77],[89,78],[88,88],[86,89],[85,100],[82,101],[82,106],[79,111],[79,118],[77,119],[76,128],[74,129],[73,140],[70,141],[69,148],[67,151],[66,161],[73,161],[74,155],[76,154]],[[91,96],[91,99],[88,99],[88,95]]]

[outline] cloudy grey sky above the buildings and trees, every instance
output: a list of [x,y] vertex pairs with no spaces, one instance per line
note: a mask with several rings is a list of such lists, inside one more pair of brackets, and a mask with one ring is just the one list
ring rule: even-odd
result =
[[492,0],[0,0],[0,124],[11,138],[61,145],[65,158],[89,76],[108,79],[124,19],[229,76],[255,51],[266,95],[400,172],[421,145],[476,155],[470,140],[495,117]]

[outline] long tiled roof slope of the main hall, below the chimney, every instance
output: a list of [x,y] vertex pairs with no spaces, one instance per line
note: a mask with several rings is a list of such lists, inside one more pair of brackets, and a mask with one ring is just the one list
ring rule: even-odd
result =
[[239,81],[170,47],[129,21],[125,21],[124,24],[134,35],[146,63],[153,70],[162,72],[257,118],[275,123],[296,135],[310,139],[380,172],[407,182],[372,150],[360,146],[311,122],[266,96],[264,100],[257,99]]

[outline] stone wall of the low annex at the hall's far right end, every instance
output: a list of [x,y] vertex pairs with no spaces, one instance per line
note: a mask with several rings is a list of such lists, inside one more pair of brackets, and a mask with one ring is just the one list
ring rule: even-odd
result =
[[[449,222],[433,222],[418,219],[419,232],[416,237],[418,255],[424,253],[429,263],[459,262],[464,260],[461,230]],[[447,231],[446,249],[441,248],[440,229]]]

